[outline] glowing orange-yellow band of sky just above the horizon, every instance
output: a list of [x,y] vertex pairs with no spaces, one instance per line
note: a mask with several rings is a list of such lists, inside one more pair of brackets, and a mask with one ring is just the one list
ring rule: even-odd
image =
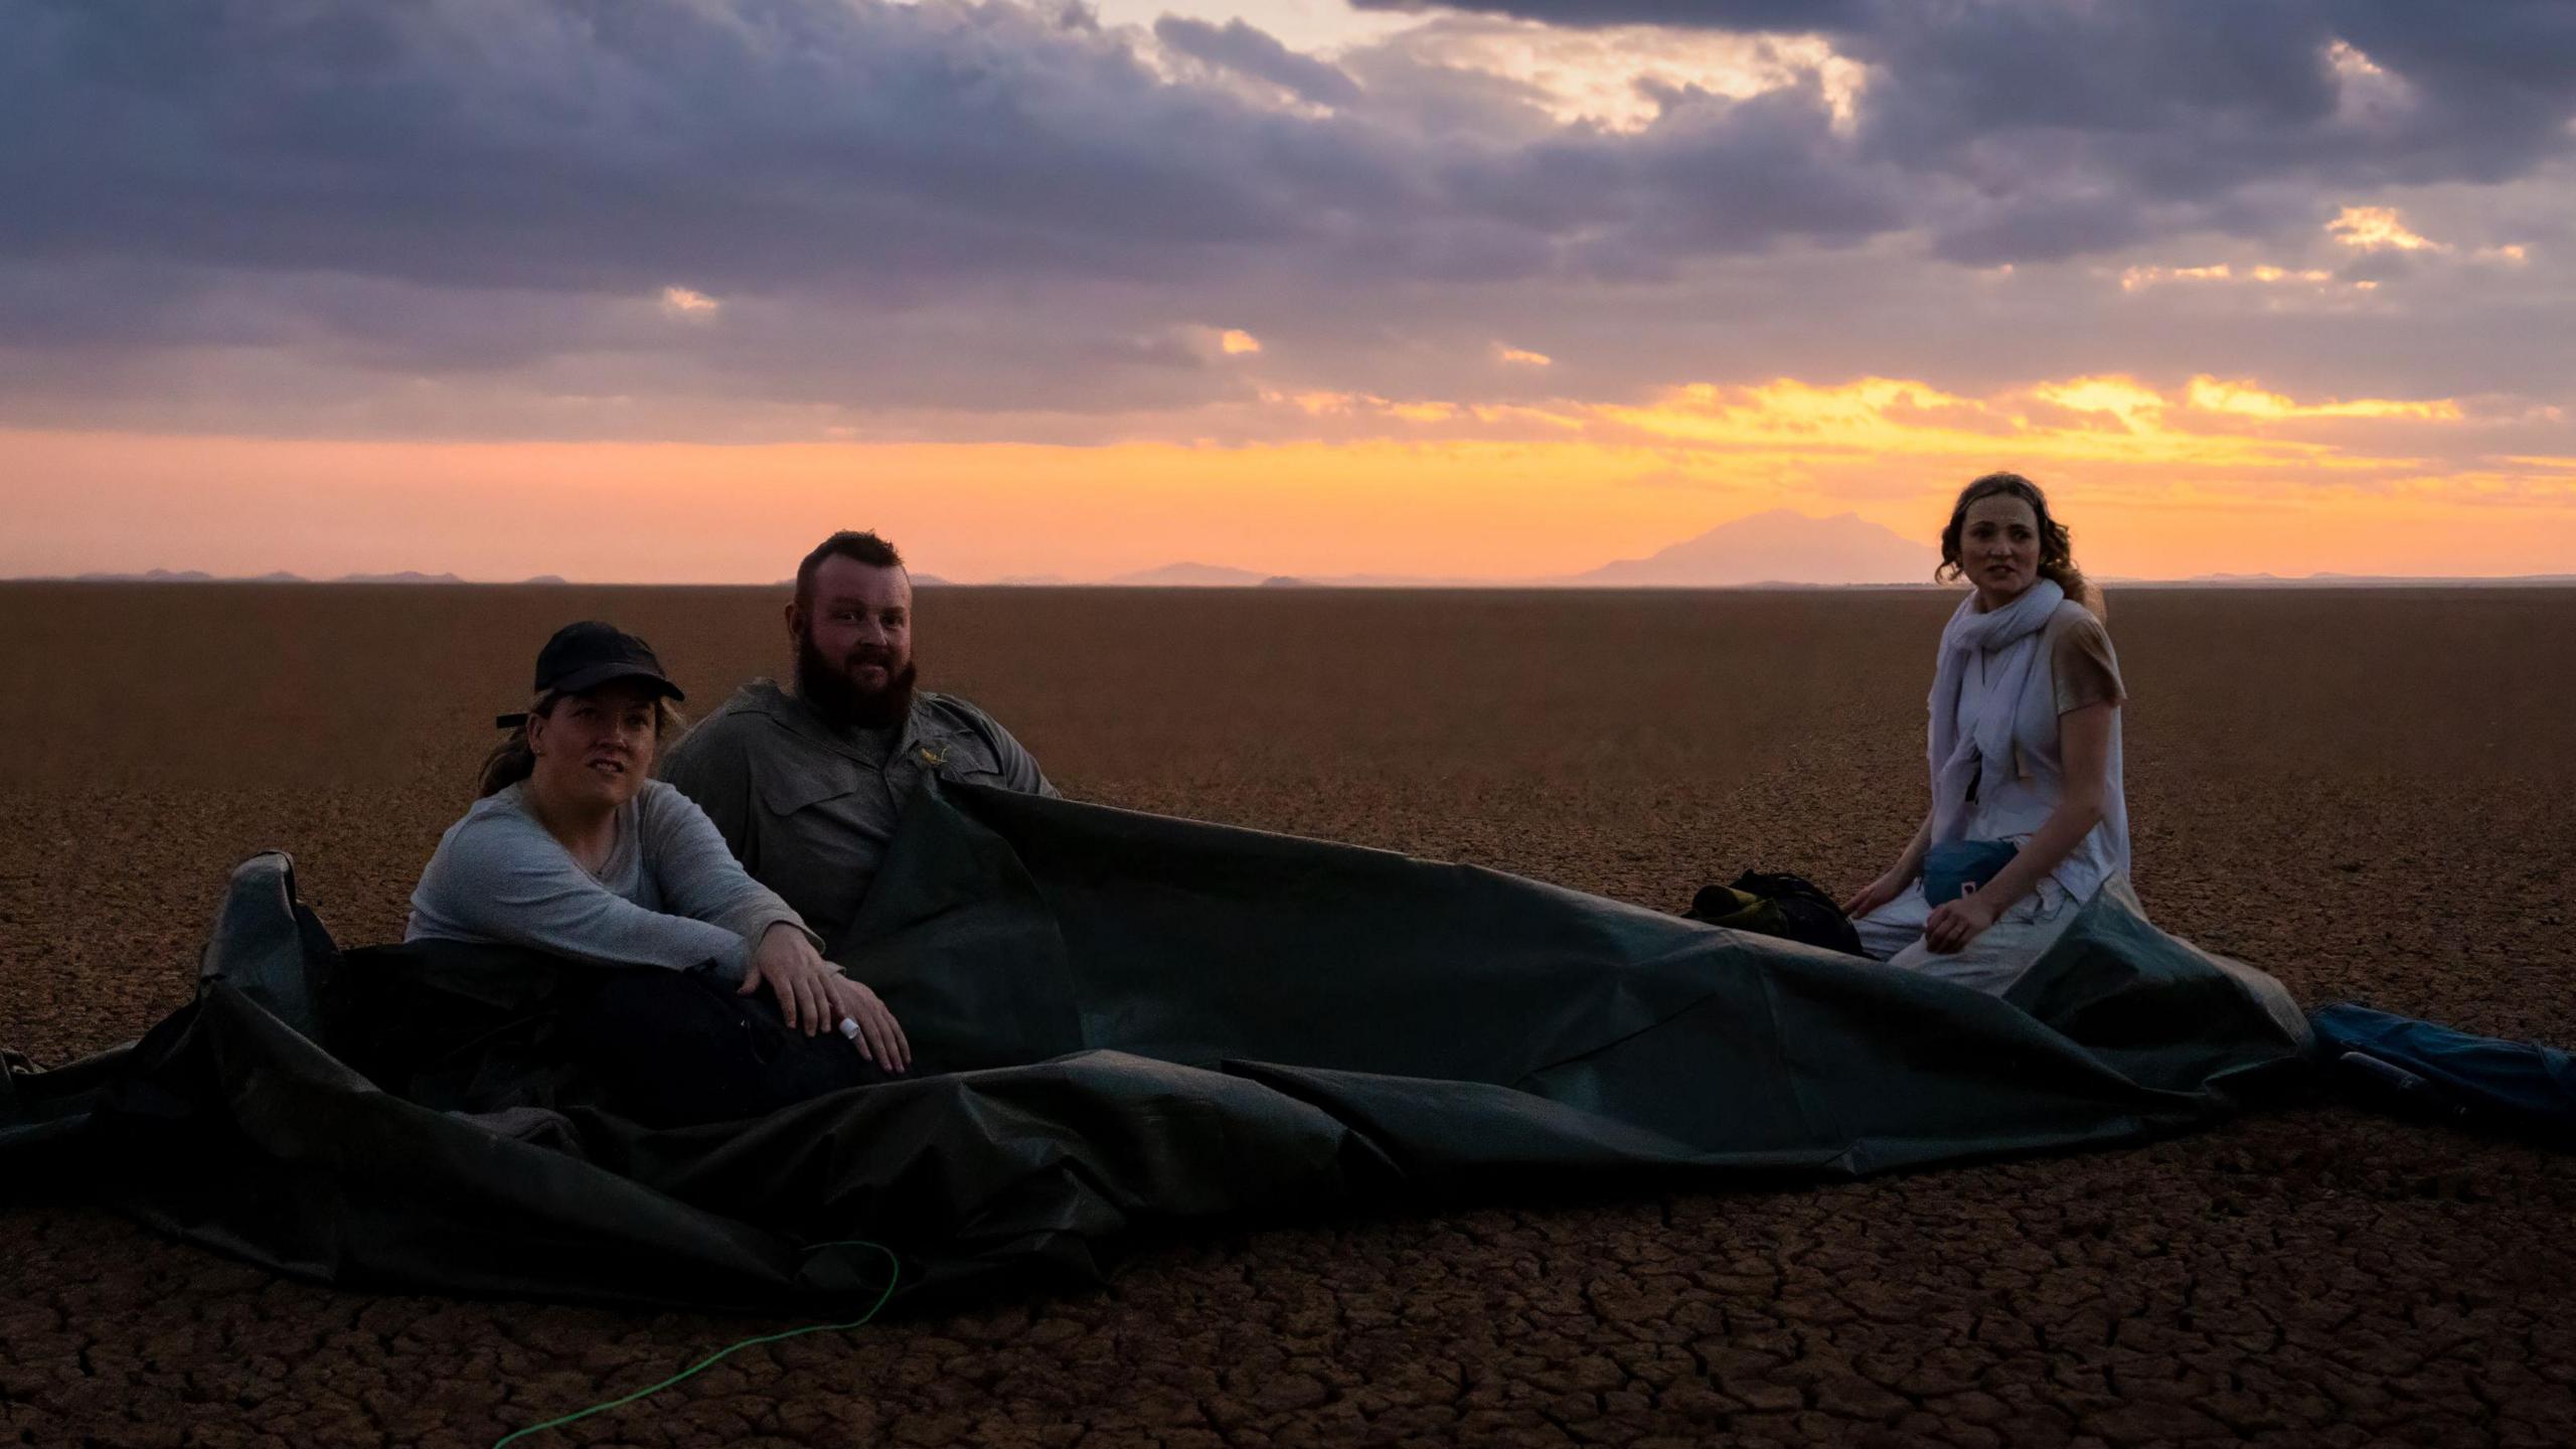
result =
[[[2040,480],[2105,575],[2576,572],[2576,456],[2476,446],[2452,397],[2125,374],[1685,384],[1649,405],[1265,392],[1242,443],[428,443],[0,433],[0,575],[204,567],[768,583],[881,526],[925,572],[1175,559],[1520,580],[1793,508],[1932,539],[1958,485]],[[2504,420],[2514,423],[2514,420]],[[2543,420],[2548,423],[2548,420]],[[1329,436],[1314,436],[1329,433]],[[2506,433],[2530,438],[2527,431]],[[2501,441],[2501,438],[2499,438]],[[2287,521],[2295,518],[2295,526]]]

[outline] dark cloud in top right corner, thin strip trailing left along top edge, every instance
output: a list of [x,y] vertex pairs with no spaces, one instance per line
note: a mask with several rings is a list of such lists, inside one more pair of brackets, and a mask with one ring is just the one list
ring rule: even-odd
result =
[[[1870,67],[1855,150],[1994,211],[1919,222],[1960,260],[2241,227],[2277,183],[2504,180],[2571,144],[2576,5],[2494,0],[1355,0],[1551,26],[1821,34]],[[2372,64],[2383,75],[2344,75]],[[2357,103],[2375,101],[2375,103]],[[2105,193],[2115,191],[2115,193]],[[2179,206],[2159,206],[2179,204]],[[2007,219],[2027,224],[2009,242]]]

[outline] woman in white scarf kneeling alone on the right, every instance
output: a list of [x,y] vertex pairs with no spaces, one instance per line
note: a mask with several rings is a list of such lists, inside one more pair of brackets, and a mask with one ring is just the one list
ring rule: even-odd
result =
[[1940,572],[1965,578],[1932,678],[1932,812],[1842,902],[1891,967],[2002,993],[2128,874],[2120,663],[2066,526],[2027,477],[1958,495]]

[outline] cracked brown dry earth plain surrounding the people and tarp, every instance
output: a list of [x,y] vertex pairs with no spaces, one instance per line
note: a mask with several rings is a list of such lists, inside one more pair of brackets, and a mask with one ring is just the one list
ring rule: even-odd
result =
[[[765,590],[0,588],[0,1042],[188,995],[224,871],[389,938],[574,616],[706,704]],[[933,590],[1069,792],[1680,905],[1922,812],[1947,601]],[[2280,975],[2576,1042],[2576,590],[2128,590],[2138,890]],[[1476,1011],[1461,1000],[1461,1011]],[[1108,1289],[752,1348],[533,1444],[2568,1444],[2576,1158],[2308,1104],[1795,1191],[1136,1243]],[[0,1183],[0,1444],[492,1444],[786,1328],[276,1279]]]

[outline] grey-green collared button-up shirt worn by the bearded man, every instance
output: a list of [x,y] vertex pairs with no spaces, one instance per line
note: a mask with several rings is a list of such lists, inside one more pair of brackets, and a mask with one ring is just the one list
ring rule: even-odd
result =
[[662,779],[706,810],[742,869],[829,946],[858,918],[894,822],[927,776],[1059,794],[1010,730],[927,691],[899,730],[840,730],[757,678],[662,758]]

